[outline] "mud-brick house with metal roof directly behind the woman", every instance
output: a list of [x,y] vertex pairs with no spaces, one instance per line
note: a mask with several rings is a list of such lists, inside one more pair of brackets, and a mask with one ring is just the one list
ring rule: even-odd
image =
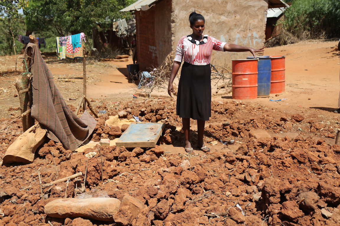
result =
[[[189,35],[193,9],[205,17],[204,34],[223,42],[260,48],[265,42],[268,8],[289,7],[282,0],[139,0],[121,12],[136,16],[137,55],[141,70],[159,66]],[[231,65],[249,53],[213,51],[213,64]]]

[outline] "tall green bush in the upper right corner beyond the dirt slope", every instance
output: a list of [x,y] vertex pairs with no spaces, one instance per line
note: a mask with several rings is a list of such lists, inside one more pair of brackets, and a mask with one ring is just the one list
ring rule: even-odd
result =
[[334,38],[340,34],[339,0],[294,0],[285,12],[284,28],[298,39]]

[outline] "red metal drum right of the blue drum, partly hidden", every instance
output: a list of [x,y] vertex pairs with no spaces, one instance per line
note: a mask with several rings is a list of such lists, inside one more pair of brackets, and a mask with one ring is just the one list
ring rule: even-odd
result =
[[286,56],[270,56],[271,57],[271,79],[270,93],[278,94],[285,91],[286,83]]

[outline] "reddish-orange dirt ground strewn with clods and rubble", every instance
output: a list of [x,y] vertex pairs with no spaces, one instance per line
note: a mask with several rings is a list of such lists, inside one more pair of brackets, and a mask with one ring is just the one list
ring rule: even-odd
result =
[[[40,168],[45,184],[84,173],[85,160],[86,191],[98,188],[119,200],[129,194],[145,205],[132,225],[340,226],[340,146],[335,145],[339,115],[333,113],[339,92],[337,42],[309,40],[267,48],[264,55],[286,56],[285,92],[254,100],[215,96],[204,137],[211,150],[204,153],[194,148],[194,155],[184,151],[175,98],[164,98],[164,91],[155,94],[162,97],[131,101],[130,94],[138,91],[124,75],[131,59],[89,64],[87,96],[97,111],[107,111],[97,119],[93,141],[113,138],[104,122],[122,110],[127,119],[138,115],[145,122],[166,123],[164,136],[155,148],[96,146],[72,155],[50,141],[37,150],[31,164],[1,164],[0,226],[48,226],[48,221],[53,226],[128,225],[45,214],[46,203],[65,196],[66,184],[44,187],[48,199],[41,200],[37,170]],[[0,66],[2,159],[22,128],[14,97],[13,84],[19,76],[12,70],[15,58],[0,60],[4,62]],[[64,99],[75,109],[78,102],[68,99],[79,100],[82,95],[82,64],[46,61]],[[191,129],[195,146],[197,126],[193,121]],[[234,143],[223,145],[220,140]],[[85,154],[92,151],[96,155],[87,158]],[[79,178],[83,181],[83,176]],[[74,197],[74,183],[70,184],[67,197]],[[129,222],[129,210],[120,211]]]

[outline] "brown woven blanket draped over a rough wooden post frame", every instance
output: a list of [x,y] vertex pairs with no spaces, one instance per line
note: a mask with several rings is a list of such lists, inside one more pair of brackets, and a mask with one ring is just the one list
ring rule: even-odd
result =
[[31,115],[45,125],[48,138],[73,151],[91,135],[97,121],[87,111],[79,118],[68,108],[36,45],[29,43],[24,56],[28,47],[32,47],[32,61],[29,65],[33,76]]

